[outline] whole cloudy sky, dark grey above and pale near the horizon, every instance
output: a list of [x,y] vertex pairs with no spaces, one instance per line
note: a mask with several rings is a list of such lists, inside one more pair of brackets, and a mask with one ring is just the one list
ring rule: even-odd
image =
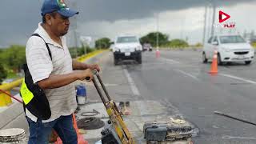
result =
[[[1,0],[0,47],[11,44],[26,45],[26,40],[41,22],[43,0]],[[120,34],[142,36],[157,30],[172,38],[188,38],[191,44],[202,42],[204,11],[214,2],[215,23],[218,10],[230,14],[228,22],[235,22],[235,31],[243,33],[256,29],[256,0],[66,0],[70,8],[80,14],[72,18],[77,22],[78,36],[114,38]],[[210,26],[212,9],[207,23]],[[158,15],[158,17],[157,17]],[[206,35],[209,35],[206,33]],[[67,35],[69,45],[74,45],[74,26]]]

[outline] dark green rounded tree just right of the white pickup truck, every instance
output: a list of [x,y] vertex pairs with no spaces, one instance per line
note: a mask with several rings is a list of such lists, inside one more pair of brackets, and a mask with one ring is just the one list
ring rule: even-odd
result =
[[145,42],[150,42],[152,46],[157,46],[157,36],[158,36],[158,45],[163,46],[168,42],[168,35],[162,34],[161,32],[151,32],[140,38],[140,42],[143,44]]

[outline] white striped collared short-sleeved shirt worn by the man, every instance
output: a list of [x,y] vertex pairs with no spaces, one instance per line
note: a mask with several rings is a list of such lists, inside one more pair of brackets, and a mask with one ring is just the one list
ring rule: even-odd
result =
[[[73,71],[72,58],[66,46],[66,38],[61,38],[62,46],[60,46],[50,38],[41,24],[38,24],[38,29],[34,31],[34,34],[39,34],[46,41],[50,48],[52,60],[42,38],[30,37],[26,44],[26,62],[34,83],[49,78],[50,74],[69,74]],[[50,103],[51,117],[42,122],[51,122],[62,115],[70,115],[77,108],[74,83],[45,90],[45,93]],[[26,110],[26,116],[34,122],[37,121],[37,118],[28,110]]]

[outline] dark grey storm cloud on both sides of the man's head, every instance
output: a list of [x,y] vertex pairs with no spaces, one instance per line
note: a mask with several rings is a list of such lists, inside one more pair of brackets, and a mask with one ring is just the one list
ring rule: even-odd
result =
[[[232,6],[251,0],[214,1],[217,6]],[[78,22],[140,19],[166,10],[183,10],[205,6],[205,0],[70,0],[71,8],[80,11]],[[76,5],[76,6],[75,6]],[[26,39],[41,22],[42,0],[1,0],[0,46],[26,44]]]

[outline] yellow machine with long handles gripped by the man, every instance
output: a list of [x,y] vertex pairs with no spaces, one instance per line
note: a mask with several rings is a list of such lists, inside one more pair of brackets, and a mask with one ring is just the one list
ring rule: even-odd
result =
[[[110,144],[110,143],[111,144],[121,144],[121,143],[134,144],[135,143],[134,138],[132,138],[132,135],[127,129],[127,126],[123,121],[122,115],[118,110],[118,106],[110,98],[110,95],[108,94],[106,87],[102,82],[102,78],[99,76],[97,70],[94,70],[93,73],[94,73],[94,78],[92,81],[94,82],[94,86],[98,91],[98,94],[102,99],[104,106],[106,107],[107,114],[110,117],[110,120],[106,123],[106,126],[102,130],[102,143],[103,144]],[[98,82],[102,86],[102,90],[105,92],[107,99],[104,98],[102,94],[102,90],[98,86],[98,82],[96,82],[95,75],[98,78]]]

